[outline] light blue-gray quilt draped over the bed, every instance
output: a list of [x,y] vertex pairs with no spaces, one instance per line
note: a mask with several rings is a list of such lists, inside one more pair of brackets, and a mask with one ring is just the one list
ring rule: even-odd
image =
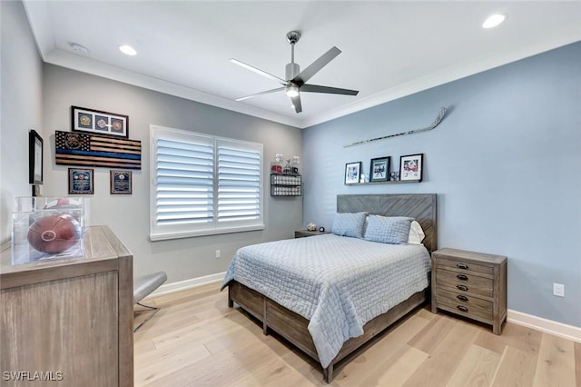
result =
[[222,289],[236,280],[310,320],[320,364],[363,325],[428,287],[428,250],[334,234],[242,247]]

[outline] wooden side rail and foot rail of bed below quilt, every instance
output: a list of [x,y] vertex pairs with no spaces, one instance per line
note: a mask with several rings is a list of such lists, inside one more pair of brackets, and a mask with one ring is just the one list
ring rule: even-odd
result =
[[[408,300],[399,303],[387,313],[383,313],[366,323],[363,326],[364,333],[344,342],[340,352],[330,362],[329,366],[322,369],[325,381],[332,382],[336,369],[350,361],[352,356],[349,355],[351,353],[356,352],[366,342],[369,342],[380,332],[385,331],[393,323],[398,322],[399,319],[415,308],[427,303],[429,299],[428,293],[429,287],[422,292],[413,294]],[[316,362],[319,362],[319,356],[308,329],[309,320],[291,312],[261,293],[241,283],[231,281],[228,283],[228,306],[233,307],[234,303],[237,303],[242,309],[261,321],[264,334],[268,334],[270,328],[299,348],[300,351],[305,352]]]

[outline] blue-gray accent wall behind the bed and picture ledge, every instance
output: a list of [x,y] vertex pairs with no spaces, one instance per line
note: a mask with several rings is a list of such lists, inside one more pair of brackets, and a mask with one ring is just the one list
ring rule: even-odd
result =
[[[508,257],[508,308],[581,327],[581,43],[307,128],[304,223],[338,193],[438,193],[438,245]],[[438,128],[343,148],[356,140]],[[345,186],[346,163],[425,154],[424,182]],[[552,294],[565,284],[565,298]]]

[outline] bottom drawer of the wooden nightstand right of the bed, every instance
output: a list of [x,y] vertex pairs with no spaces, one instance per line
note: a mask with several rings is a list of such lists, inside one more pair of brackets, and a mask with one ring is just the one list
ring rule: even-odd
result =
[[462,314],[483,323],[491,323],[493,303],[468,294],[449,292],[445,289],[436,289],[438,307],[449,312]]

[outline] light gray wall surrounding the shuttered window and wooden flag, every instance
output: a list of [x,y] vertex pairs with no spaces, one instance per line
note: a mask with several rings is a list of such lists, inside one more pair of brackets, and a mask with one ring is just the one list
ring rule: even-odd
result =
[[[291,238],[300,228],[301,198],[271,198],[268,176],[275,154],[302,154],[300,129],[55,65],[44,65],[44,124],[51,154],[45,195],[67,194],[68,167],[54,164],[54,131],[70,131],[71,105],[128,114],[129,138],[142,141],[143,169],[133,172],[133,194],[111,195],[109,169],[95,168],[94,195],[89,196],[91,223],[108,224],[117,233],[134,254],[136,275],[165,270],[174,283],[221,273],[239,247]],[[266,229],[149,242],[150,124],[264,144]],[[218,249],[221,259],[214,258]]]

